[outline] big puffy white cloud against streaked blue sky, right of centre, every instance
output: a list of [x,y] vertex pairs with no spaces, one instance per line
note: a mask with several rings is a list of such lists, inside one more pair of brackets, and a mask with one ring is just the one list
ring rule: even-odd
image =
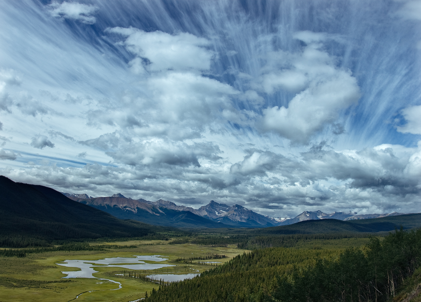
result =
[[[360,97],[357,79],[347,70],[335,66],[335,61],[320,50],[319,41],[325,35],[301,32],[296,38],[309,43],[301,54],[287,54],[292,67],[271,71],[261,76],[266,93],[277,89],[300,91],[288,107],[274,106],[263,111],[263,128],[279,133],[294,142],[305,143],[326,124],[334,123],[341,110],[355,104]],[[281,56],[283,57],[283,56]]]

